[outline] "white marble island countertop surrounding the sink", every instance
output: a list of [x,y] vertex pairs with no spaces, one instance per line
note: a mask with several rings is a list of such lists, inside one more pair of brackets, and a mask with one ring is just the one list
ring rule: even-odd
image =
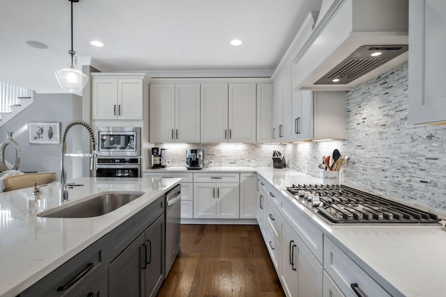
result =
[[169,191],[180,179],[79,178],[69,202],[59,202],[59,182],[41,188],[47,209],[104,191],[143,191],[140,198],[94,218],[41,218],[28,214],[32,188],[0,193],[0,296],[22,291],[77,255],[124,220]]

